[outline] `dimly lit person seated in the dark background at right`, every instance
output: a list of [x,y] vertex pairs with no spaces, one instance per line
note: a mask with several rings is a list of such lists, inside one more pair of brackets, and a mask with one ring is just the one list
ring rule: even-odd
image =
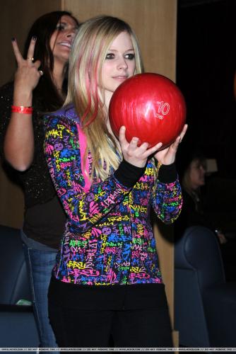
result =
[[[181,150],[180,150],[181,151]],[[185,149],[186,151],[186,149]],[[180,217],[175,223],[175,236],[181,237],[187,227],[201,225],[211,229],[216,235],[220,244],[221,256],[225,268],[225,278],[227,281],[236,280],[236,243],[234,239],[230,239],[221,231],[220,218],[218,223],[211,219],[206,210],[206,201],[202,195],[201,188],[205,185],[206,176],[206,158],[201,153],[193,152],[191,149],[186,154],[181,154],[182,159],[179,159],[179,168],[182,183],[183,207]],[[216,195],[218,190],[216,190]],[[222,201],[223,203],[223,201]]]

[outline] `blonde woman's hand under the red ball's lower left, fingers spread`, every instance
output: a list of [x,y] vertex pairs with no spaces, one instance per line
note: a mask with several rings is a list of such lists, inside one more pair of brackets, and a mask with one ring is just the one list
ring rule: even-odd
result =
[[146,166],[148,157],[157,152],[158,149],[162,147],[162,143],[159,142],[154,147],[148,149],[148,142],[143,142],[143,144],[138,147],[137,137],[133,137],[131,142],[127,142],[125,130],[126,128],[124,126],[119,130],[119,144],[121,145],[124,159],[129,162],[129,164],[136,167]]

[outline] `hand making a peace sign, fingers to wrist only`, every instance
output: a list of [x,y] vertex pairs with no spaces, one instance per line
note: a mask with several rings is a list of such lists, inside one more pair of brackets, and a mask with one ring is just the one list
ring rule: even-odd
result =
[[21,92],[23,90],[24,93],[32,93],[40,80],[40,76],[43,74],[41,70],[38,70],[41,64],[40,60],[33,62],[36,40],[37,38],[32,38],[30,41],[27,59],[24,59],[21,55],[16,39],[12,40],[13,52],[18,66],[15,74],[14,89],[19,89]]

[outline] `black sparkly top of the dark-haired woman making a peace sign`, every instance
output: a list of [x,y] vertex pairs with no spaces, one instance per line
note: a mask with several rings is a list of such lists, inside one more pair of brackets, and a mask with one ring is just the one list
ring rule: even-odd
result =
[[[11,118],[13,82],[0,89],[0,156],[4,159],[4,136]],[[25,196],[24,232],[28,237],[57,248],[64,232],[66,217],[57,198],[43,152],[44,128],[40,115],[40,100],[33,97],[33,130],[35,154],[33,163],[25,172],[13,170]]]

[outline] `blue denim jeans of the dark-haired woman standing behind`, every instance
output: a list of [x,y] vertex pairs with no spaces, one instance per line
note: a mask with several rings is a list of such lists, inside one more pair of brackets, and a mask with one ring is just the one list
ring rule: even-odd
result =
[[[30,273],[35,321],[40,337],[40,348],[56,348],[54,332],[49,324],[47,292],[57,251],[33,249],[23,243],[25,261]],[[55,353],[55,352],[54,352]]]

